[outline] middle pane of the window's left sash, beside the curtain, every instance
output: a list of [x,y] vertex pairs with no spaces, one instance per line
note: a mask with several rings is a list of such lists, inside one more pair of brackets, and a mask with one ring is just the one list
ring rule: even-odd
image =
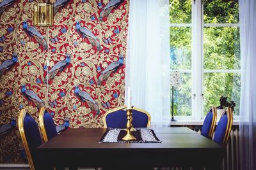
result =
[[170,27],[171,69],[191,69],[191,27]]

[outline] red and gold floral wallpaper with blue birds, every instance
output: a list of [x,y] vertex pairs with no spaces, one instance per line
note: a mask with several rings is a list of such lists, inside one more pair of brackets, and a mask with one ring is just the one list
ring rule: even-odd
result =
[[33,25],[33,5],[0,0],[0,163],[24,163],[20,110],[56,125],[103,127],[124,104],[129,1],[54,0],[54,25]]

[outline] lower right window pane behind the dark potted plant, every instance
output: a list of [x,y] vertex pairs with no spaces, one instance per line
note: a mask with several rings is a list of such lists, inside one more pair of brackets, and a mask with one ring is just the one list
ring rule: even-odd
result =
[[240,73],[204,73],[204,115],[211,106],[220,106],[220,97],[234,101],[234,115],[239,115]]

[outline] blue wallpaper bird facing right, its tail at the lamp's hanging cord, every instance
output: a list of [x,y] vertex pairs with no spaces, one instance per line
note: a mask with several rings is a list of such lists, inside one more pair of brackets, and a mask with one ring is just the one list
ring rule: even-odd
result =
[[53,80],[54,77],[56,76],[56,74],[57,74],[58,72],[63,71],[63,70],[68,66],[68,64],[70,64],[70,55],[67,54],[65,60],[60,60],[60,61],[58,61],[58,62],[50,69],[50,71],[49,71],[49,72],[47,73],[47,75],[45,76],[44,83],[46,84],[49,79]]

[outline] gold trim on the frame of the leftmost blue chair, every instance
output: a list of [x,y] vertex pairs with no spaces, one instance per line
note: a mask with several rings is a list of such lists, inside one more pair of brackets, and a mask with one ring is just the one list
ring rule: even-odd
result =
[[26,151],[26,154],[27,154],[27,157],[28,157],[28,162],[29,162],[30,169],[35,170],[35,167],[34,167],[34,164],[33,164],[33,159],[31,157],[31,153],[29,151],[28,141],[26,139],[26,135],[25,135],[25,132],[24,132],[24,118],[25,118],[27,113],[28,112],[26,111],[26,109],[22,109],[20,111],[19,120],[18,120],[19,121],[19,131],[20,131],[20,137],[22,139],[22,143],[24,145],[24,148],[25,148],[25,151]]

